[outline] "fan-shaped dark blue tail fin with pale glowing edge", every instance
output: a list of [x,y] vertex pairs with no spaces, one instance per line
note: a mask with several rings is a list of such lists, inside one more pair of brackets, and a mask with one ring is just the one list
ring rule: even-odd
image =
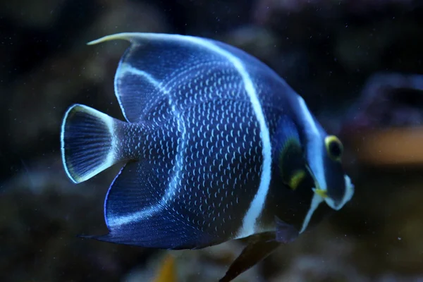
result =
[[65,171],[74,183],[121,161],[115,134],[121,124],[89,106],[75,104],[66,111],[61,126],[61,154]]

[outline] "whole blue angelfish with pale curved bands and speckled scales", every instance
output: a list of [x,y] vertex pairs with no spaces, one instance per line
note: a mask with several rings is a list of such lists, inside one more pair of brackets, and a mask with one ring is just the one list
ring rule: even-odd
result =
[[104,202],[109,233],[90,238],[171,250],[242,239],[231,281],[317,223],[321,202],[338,210],[353,197],[341,141],[264,63],[183,35],[90,44],[114,39],[130,42],[114,81],[126,121],[75,104],[61,128],[74,183],[125,161]]

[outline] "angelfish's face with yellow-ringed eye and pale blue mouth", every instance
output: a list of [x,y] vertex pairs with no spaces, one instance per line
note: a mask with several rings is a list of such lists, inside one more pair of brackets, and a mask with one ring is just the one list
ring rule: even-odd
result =
[[313,191],[335,210],[341,209],[354,194],[354,185],[341,164],[342,155],[341,140],[322,129],[305,145],[306,166],[314,180]]

